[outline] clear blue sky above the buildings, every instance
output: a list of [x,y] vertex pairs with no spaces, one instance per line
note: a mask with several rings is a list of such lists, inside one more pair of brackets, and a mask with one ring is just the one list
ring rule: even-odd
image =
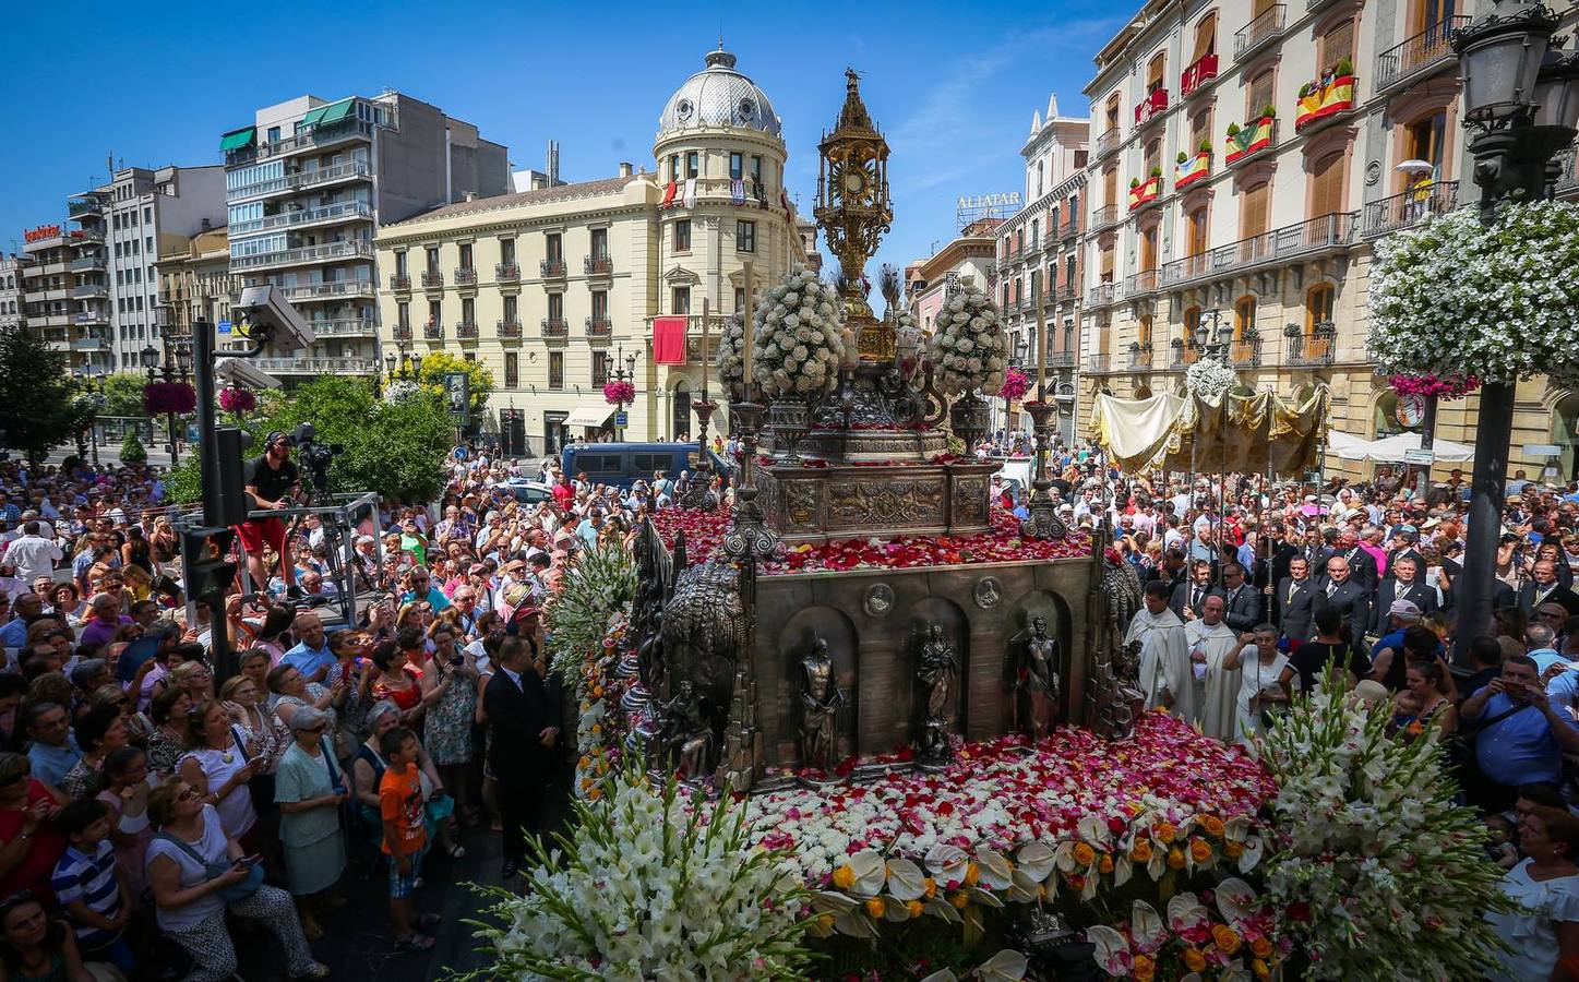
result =
[[117,166],[218,163],[224,129],[303,92],[399,88],[477,123],[516,167],[542,167],[557,139],[567,180],[609,177],[621,159],[652,169],[658,112],[722,30],[783,120],[802,212],[816,193],[816,142],[843,101],[842,73],[864,74],[894,150],[894,232],[875,272],[947,242],[960,194],[1023,188],[1031,112],[1045,112],[1052,92],[1066,115],[1085,112],[1091,55],[1127,14],[1093,19],[1069,0],[586,9],[19,5],[0,41],[0,251],[19,249],[25,227],[62,221],[68,194],[104,180],[107,155]]

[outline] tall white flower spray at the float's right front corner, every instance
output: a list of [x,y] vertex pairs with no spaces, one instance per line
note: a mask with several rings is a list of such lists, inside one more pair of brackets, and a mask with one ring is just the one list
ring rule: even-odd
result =
[[1309,979],[1480,979],[1500,944],[1484,914],[1506,903],[1502,870],[1484,823],[1453,804],[1442,744],[1390,720],[1330,666],[1260,739],[1277,781],[1265,875],[1279,935]]

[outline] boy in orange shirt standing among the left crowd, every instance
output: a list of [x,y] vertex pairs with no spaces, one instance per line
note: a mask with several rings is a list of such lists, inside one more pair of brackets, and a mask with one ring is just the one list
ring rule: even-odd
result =
[[422,857],[428,854],[428,832],[423,827],[422,778],[417,775],[417,734],[409,726],[396,726],[379,740],[388,761],[379,780],[379,813],[384,818],[384,854],[390,860],[390,917],[395,920],[395,944],[401,950],[425,952],[433,938],[414,928],[433,928],[437,914],[414,917],[411,901],[422,873]]

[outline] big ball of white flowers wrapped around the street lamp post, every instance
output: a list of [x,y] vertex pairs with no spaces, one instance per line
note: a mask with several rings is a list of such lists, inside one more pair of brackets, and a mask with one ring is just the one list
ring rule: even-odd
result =
[[1383,374],[1579,384],[1579,207],[1457,208],[1377,242],[1371,357]]

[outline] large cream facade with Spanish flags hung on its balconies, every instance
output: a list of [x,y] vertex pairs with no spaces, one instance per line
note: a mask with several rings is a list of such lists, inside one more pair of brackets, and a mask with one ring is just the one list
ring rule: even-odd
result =
[[[1244,387],[1325,382],[1334,429],[1401,431],[1366,352],[1371,254],[1476,197],[1450,41],[1484,6],[1156,0],[1104,46],[1085,90],[1082,418],[1097,390],[1176,388],[1205,328]],[[1522,442],[1565,442],[1571,472],[1576,415],[1571,393],[1521,385],[1514,466],[1547,463],[1521,463]],[[1473,398],[1445,404],[1437,433],[1473,442]]]

